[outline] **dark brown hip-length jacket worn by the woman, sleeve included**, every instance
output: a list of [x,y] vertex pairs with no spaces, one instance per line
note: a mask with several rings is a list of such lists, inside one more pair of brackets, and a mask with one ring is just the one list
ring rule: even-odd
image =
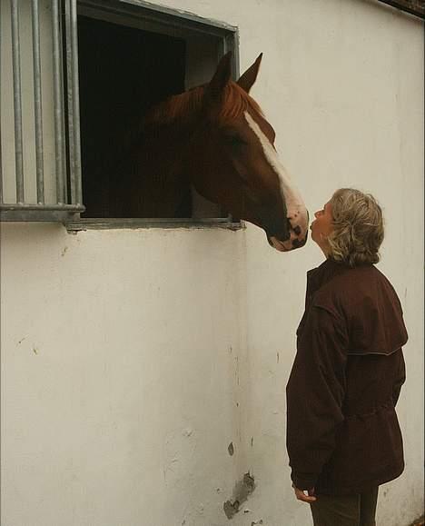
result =
[[407,342],[399,298],[373,265],[327,260],[307,274],[286,387],[287,449],[302,490],[348,494],[404,468],[395,405]]

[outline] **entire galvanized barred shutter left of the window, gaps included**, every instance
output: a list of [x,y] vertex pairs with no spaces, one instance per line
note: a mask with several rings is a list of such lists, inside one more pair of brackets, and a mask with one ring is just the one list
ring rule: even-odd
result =
[[76,24],[76,0],[1,0],[2,221],[66,222],[84,211]]

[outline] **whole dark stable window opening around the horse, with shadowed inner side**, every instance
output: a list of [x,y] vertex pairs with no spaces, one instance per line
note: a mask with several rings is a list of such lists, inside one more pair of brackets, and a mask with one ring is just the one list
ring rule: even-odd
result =
[[[143,117],[154,105],[208,82],[226,40],[206,31],[161,25],[143,12],[86,8],[78,16],[82,182],[86,207],[82,219],[133,218],[146,221],[221,219],[225,211],[182,181],[174,190],[178,205],[163,213],[163,195],[153,174],[140,173],[149,186],[150,202],[143,213],[129,205],[133,195],[129,175],[143,145]],[[216,32],[216,30],[215,30]],[[233,35],[234,36],[234,35]],[[153,155],[161,153],[153,152]],[[151,179],[149,179],[151,178]],[[158,184],[158,187],[153,187]],[[152,221],[151,221],[152,222]]]

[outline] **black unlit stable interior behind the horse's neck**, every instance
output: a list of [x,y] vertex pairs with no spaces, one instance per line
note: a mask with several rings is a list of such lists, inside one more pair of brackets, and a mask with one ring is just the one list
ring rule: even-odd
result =
[[[78,16],[83,217],[111,217],[109,180],[143,114],[184,91],[181,38]],[[188,197],[183,217],[191,216]]]

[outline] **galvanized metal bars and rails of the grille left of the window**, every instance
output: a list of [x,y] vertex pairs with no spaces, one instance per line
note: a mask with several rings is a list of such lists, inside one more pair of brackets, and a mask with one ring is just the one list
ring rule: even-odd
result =
[[[4,202],[4,194],[2,192],[3,174],[0,166],[0,221],[65,223],[73,220],[75,217],[79,217],[79,213],[84,212],[81,195],[81,161],[79,152],[78,63],[75,63],[74,60],[67,60],[67,71],[64,74],[63,54],[65,48],[67,57],[73,57],[74,59],[77,56],[76,3],[75,0],[51,0],[54,68],[55,203],[45,203],[44,199],[43,79],[41,74],[42,57],[40,55],[38,1],[31,0],[31,7],[36,203],[25,200],[19,2],[18,0],[11,0],[16,200],[15,203]],[[64,35],[64,26],[66,35]],[[74,65],[74,67],[70,65]],[[64,99],[65,89],[67,89],[66,100]],[[64,131],[65,129],[66,131]],[[71,148],[69,147],[70,145],[72,146]]]

